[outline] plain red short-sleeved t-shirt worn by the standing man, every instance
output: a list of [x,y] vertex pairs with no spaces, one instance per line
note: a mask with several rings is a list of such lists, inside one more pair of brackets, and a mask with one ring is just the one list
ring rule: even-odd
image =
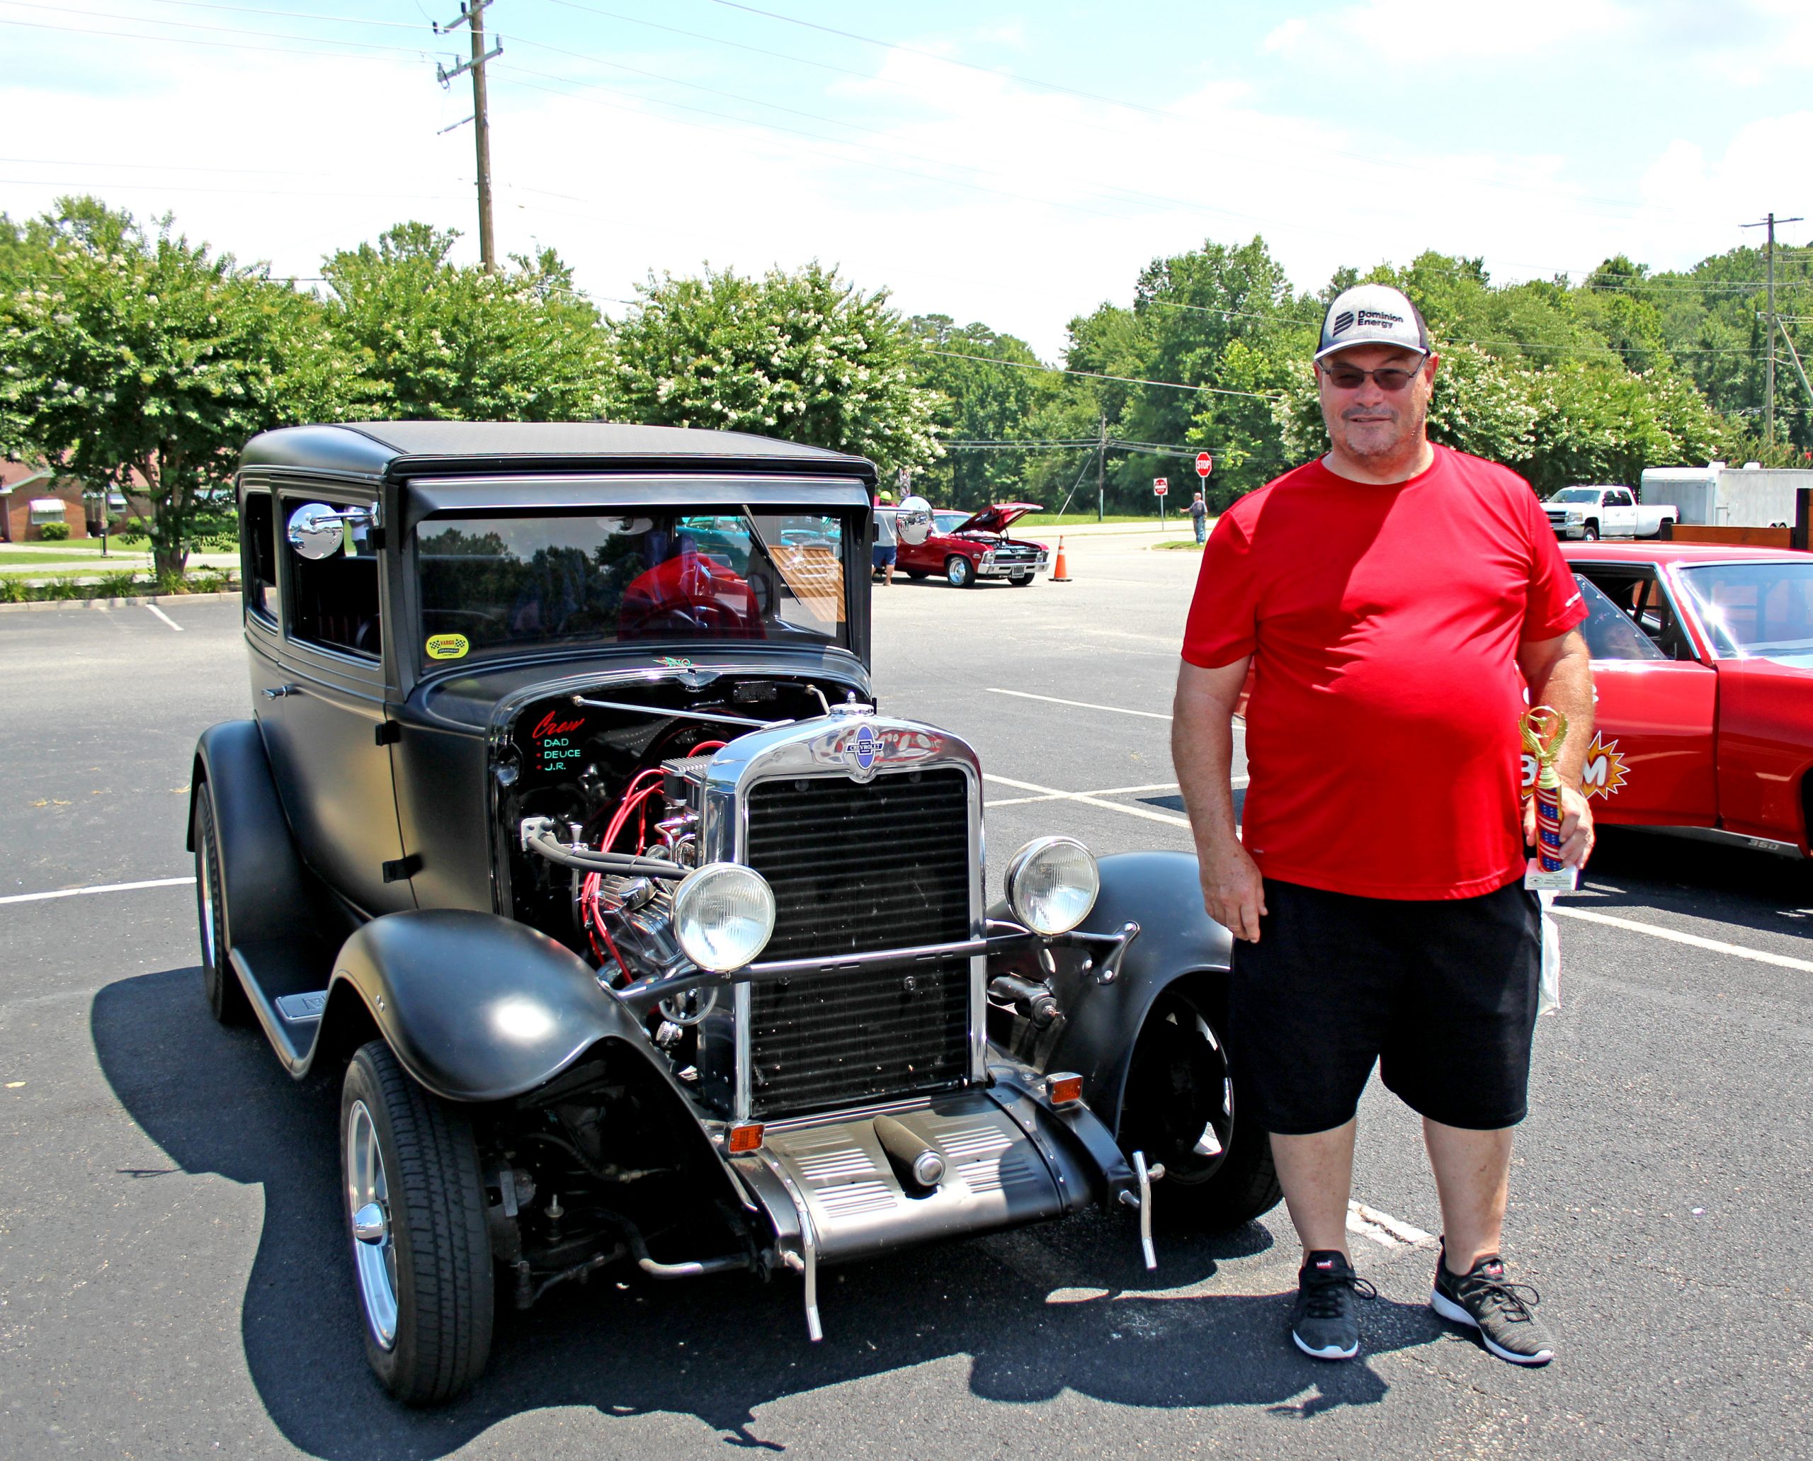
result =
[[1530,484],[1434,451],[1389,486],[1300,466],[1202,553],[1184,658],[1253,656],[1242,839],[1267,877],[1436,899],[1523,874],[1517,643],[1586,609]]

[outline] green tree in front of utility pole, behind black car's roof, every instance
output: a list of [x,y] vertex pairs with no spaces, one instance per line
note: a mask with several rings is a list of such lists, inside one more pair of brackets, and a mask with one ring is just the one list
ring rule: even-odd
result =
[[[604,410],[607,339],[549,248],[486,274],[455,265],[459,234],[399,223],[328,257],[326,321],[357,390],[350,415],[575,421]],[[346,386],[346,381],[341,381]]]

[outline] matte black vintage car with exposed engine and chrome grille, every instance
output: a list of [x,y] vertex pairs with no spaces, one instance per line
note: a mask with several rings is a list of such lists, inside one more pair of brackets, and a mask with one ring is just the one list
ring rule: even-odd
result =
[[401,1399],[471,1383],[497,1291],[798,1274],[816,1340],[823,1263],[1097,1204],[1149,1263],[1155,1207],[1276,1202],[1195,859],[1039,837],[984,903],[975,752],[876,709],[874,486],[642,426],[245,448],[254,714],[196,749],[203,986],[294,1077],[344,1071]]

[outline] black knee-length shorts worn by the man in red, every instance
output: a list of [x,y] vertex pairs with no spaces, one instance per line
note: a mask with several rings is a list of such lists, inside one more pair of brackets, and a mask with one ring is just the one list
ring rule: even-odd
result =
[[1305,1137],[1347,1122],[1372,1062],[1416,1113],[1492,1131],[1528,1113],[1541,905],[1521,883],[1396,901],[1265,879],[1235,943],[1229,1053],[1244,1113]]

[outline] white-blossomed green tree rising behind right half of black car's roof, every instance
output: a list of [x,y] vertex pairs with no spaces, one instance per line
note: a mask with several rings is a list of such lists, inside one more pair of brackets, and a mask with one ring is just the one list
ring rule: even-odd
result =
[[914,337],[885,290],[812,263],[760,279],[651,276],[636,294],[611,335],[611,401],[625,419],[852,451],[883,473],[939,457],[939,397],[914,384]]

